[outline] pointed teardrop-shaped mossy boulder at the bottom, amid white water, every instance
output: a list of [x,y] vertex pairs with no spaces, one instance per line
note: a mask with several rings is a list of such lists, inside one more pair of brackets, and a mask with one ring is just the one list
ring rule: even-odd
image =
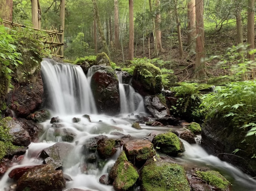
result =
[[131,188],[139,178],[134,166],[127,160],[125,152],[117,158],[114,166],[109,172],[109,178],[113,181],[116,191],[125,191]]

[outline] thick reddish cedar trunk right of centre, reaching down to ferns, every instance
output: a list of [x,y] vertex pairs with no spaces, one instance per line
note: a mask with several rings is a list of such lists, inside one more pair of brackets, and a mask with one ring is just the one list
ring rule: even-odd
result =
[[204,24],[203,24],[203,1],[196,0],[196,77],[204,75]]

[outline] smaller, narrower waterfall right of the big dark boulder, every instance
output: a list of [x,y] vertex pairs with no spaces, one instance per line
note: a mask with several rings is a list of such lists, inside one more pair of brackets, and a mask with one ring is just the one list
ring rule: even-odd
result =
[[116,71],[119,81],[119,97],[121,113],[145,113],[144,99],[129,84],[123,84],[122,71]]

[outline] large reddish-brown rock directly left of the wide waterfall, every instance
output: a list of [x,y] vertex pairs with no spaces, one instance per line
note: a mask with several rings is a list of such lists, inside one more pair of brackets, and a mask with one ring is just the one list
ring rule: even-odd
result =
[[37,82],[19,87],[12,94],[10,109],[18,117],[27,117],[41,107],[44,93],[43,82],[41,78],[37,80]]

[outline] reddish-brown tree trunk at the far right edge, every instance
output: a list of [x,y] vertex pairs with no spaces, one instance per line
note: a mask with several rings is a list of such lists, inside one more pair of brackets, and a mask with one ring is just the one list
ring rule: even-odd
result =
[[[254,0],[248,0],[247,44],[248,50],[254,49]],[[247,53],[247,59],[254,60],[254,54]]]

